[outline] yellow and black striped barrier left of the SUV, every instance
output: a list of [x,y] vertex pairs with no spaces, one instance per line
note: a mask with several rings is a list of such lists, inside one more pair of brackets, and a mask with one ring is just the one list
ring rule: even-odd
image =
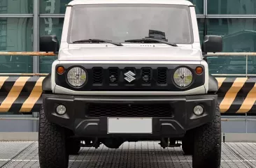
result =
[[0,112],[38,112],[45,77],[0,77]]

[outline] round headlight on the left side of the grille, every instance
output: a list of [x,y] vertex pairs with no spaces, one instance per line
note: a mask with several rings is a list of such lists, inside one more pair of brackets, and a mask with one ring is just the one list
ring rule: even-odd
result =
[[86,72],[82,68],[74,67],[69,70],[67,79],[69,84],[74,87],[79,87],[85,84],[86,81]]

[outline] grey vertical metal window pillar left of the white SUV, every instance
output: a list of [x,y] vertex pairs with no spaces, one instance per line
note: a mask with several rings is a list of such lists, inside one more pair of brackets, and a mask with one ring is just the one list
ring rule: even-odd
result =
[[[39,51],[39,0],[34,0],[33,49]],[[39,56],[33,56],[33,73],[39,73]]]

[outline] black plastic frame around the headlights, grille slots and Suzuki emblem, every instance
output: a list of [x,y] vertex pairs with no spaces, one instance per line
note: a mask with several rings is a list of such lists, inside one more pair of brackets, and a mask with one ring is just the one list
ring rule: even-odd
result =
[[[205,82],[205,75],[204,72],[201,75],[197,75],[195,69],[197,66],[202,65],[166,65],[166,64],[59,64],[58,66],[64,66],[65,72],[62,75],[55,75],[55,82],[58,86],[62,86],[66,89],[71,89],[73,91],[187,91],[190,89],[197,88],[199,86],[204,85]],[[84,86],[79,88],[75,88],[70,86],[66,82],[66,73],[71,67],[80,66],[87,71],[87,83]],[[102,84],[93,84],[93,68],[94,67],[101,67],[103,68],[103,80]],[[109,74],[108,68],[118,68],[118,83],[117,84],[110,84],[109,83]],[[176,86],[173,83],[173,73],[176,68],[179,67],[186,67],[192,71],[193,74],[193,82],[190,86],[185,88],[181,88]],[[128,83],[125,81],[124,73],[127,72],[127,68],[134,68],[134,73],[136,74],[136,79]],[[151,68],[152,69],[152,77],[150,84],[143,84],[141,72],[143,68]],[[158,68],[166,68],[166,84],[158,84],[157,83],[157,69]]]

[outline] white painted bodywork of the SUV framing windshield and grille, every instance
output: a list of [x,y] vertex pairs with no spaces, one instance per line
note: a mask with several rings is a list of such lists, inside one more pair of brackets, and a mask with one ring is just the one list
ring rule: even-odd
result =
[[[166,4],[190,6],[193,38],[192,44],[177,44],[173,47],[160,43],[122,43],[122,47],[110,43],[99,44],[69,44],[68,31],[71,17],[71,8],[76,5],[90,4]],[[55,84],[55,68],[59,63],[108,63],[108,64],[201,64],[205,71],[205,84],[188,91],[73,91]],[[111,66],[111,65],[110,65]],[[122,95],[122,96],[185,96],[204,94],[208,91],[208,64],[203,60],[197,26],[197,16],[194,6],[185,0],[75,0],[66,8],[62,40],[58,60],[52,63],[52,91],[70,95]]]

